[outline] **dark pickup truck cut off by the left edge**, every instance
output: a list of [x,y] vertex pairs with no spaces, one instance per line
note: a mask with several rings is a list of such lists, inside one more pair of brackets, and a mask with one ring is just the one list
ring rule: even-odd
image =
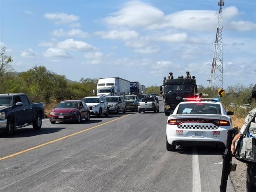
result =
[[15,128],[33,125],[40,130],[44,118],[44,104],[31,103],[26,94],[0,94],[0,131],[13,135]]

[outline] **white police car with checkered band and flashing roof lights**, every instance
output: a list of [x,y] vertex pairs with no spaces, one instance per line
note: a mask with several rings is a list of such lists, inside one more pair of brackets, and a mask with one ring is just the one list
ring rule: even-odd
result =
[[183,99],[174,109],[166,125],[166,149],[176,146],[220,146],[227,143],[232,128],[232,111],[225,111],[219,99]]

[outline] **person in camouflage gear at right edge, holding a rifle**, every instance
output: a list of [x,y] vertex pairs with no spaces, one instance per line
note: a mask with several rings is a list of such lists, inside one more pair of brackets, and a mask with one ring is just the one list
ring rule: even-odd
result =
[[[256,85],[254,86],[254,88],[256,88]],[[255,90],[255,93],[254,93],[254,90],[252,91],[252,98],[254,98],[256,102],[256,90]],[[249,112],[249,114],[245,118],[245,124],[241,128],[240,132],[237,135],[235,135],[231,145],[231,152],[233,155],[235,155],[235,157],[240,156],[245,158],[245,160],[243,160],[242,162],[246,163],[247,165],[247,175],[246,175],[247,192],[256,192],[256,154],[255,154],[256,120],[255,120],[255,116],[256,116],[256,108],[252,109]],[[248,139],[250,138],[250,141],[248,144],[245,142],[246,140],[243,140],[244,138],[248,138]],[[238,143],[237,142],[238,139],[239,140],[241,139],[240,145],[244,145],[244,146],[242,148],[240,146],[239,149],[236,149],[236,144]]]

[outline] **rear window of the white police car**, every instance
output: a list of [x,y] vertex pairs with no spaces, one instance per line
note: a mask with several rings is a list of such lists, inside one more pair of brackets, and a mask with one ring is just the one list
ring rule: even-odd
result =
[[219,104],[186,103],[180,104],[177,114],[221,114]]

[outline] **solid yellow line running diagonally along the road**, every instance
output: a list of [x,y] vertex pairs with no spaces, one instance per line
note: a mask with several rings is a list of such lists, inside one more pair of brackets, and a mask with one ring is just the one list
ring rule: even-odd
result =
[[[128,115],[130,115],[130,114],[128,114]],[[22,153],[24,153],[24,152],[28,152],[28,151],[31,151],[31,150],[34,150],[34,149],[40,148],[40,147],[42,147],[42,146],[49,145],[49,144],[51,144],[51,143],[55,143],[56,141],[60,141],[60,140],[62,140],[62,139],[66,139],[66,138],[68,138],[68,137],[71,137],[71,136],[77,135],[77,134],[79,134],[79,133],[82,133],[82,132],[85,132],[85,131],[88,131],[88,130],[91,130],[91,129],[97,128],[97,127],[99,127],[99,126],[102,126],[102,125],[105,125],[105,124],[111,123],[111,122],[113,122],[113,121],[116,121],[116,120],[119,120],[119,119],[121,119],[121,118],[127,117],[128,115],[125,115],[125,116],[119,117],[119,118],[117,118],[117,119],[113,119],[113,120],[108,121],[108,122],[106,122],[106,123],[103,123],[103,124],[100,124],[100,125],[97,125],[97,126],[94,126],[94,127],[91,127],[91,128],[88,128],[88,129],[85,129],[85,130],[79,131],[79,132],[75,132],[75,133],[73,133],[73,134],[67,135],[67,136],[65,136],[65,137],[61,137],[61,138],[59,138],[59,139],[55,139],[55,140],[53,140],[53,141],[49,141],[49,142],[44,143],[44,144],[41,144],[41,145],[38,145],[38,146],[35,146],[35,147],[32,147],[32,148],[26,149],[26,150],[23,150],[23,151],[20,151],[20,152],[17,152],[17,153],[11,154],[11,155],[8,155],[8,156],[6,156],[6,157],[2,157],[2,158],[0,158],[0,161],[1,161],[1,160],[3,160],[3,159],[7,159],[7,158],[10,158],[10,157],[14,157],[14,156],[16,156],[16,155],[18,155],[18,154],[22,154]]]

